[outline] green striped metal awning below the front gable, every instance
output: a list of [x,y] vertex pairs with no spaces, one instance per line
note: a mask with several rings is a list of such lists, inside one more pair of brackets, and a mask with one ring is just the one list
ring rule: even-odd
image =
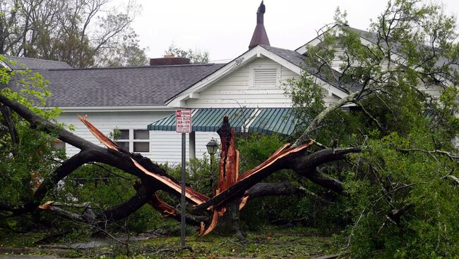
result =
[[[193,132],[216,132],[223,115],[229,115],[234,132],[290,135],[297,125],[291,108],[200,108],[191,115]],[[148,130],[175,131],[175,113],[151,123]]]

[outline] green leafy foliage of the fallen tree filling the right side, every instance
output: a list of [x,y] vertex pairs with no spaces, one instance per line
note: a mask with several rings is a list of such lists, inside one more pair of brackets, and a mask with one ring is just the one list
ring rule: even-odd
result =
[[[434,4],[396,0],[370,33],[353,30],[339,10],[335,19],[338,25],[309,46],[305,66],[321,68],[354,97],[343,103],[347,108],[326,110],[312,70],[290,84],[290,96],[304,127],[318,122],[309,137],[362,147],[347,165],[322,168],[345,182],[350,195],[341,210],[353,221],[343,246],[352,258],[458,256],[459,196],[448,180],[458,170],[454,18]],[[336,56],[339,76],[331,69]],[[435,89],[439,96],[429,94]]]

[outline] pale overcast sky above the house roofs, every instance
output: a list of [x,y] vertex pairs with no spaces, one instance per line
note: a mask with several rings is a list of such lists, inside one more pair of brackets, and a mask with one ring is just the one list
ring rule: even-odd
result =
[[[248,49],[260,0],[137,0],[133,23],[148,57],[158,58],[170,44],[210,53],[210,60],[231,60]],[[436,1],[457,18],[458,0]],[[296,49],[333,22],[336,7],[347,11],[352,27],[366,30],[386,7],[380,0],[265,0],[265,28],[271,46]]]

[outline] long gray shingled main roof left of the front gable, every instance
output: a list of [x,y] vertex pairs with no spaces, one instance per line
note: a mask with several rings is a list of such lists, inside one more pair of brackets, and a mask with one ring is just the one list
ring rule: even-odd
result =
[[163,106],[224,64],[37,70],[49,81],[48,106]]

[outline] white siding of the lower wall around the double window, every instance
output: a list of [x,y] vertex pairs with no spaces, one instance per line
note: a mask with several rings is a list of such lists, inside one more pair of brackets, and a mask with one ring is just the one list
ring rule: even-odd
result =
[[[144,130],[151,122],[174,113],[172,111],[156,112],[103,112],[87,113],[88,120],[97,127],[102,133],[109,134],[118,127],[119,130],[133,129]],[[78,120],[78,113],[62,113],[59,122],[66,125],[74,125],[73,131],[79,137],[103,146],[95,139],[93,134]],[[219,139],[214,132],[196,132],[196,157],[202,158],[203,153],[207,152],[205,144],[211,137]],[[66,144],[67,156],[73,156],[80,150],[74,146]],[[142,153],[143,156],[150,158],[157,163],[180,163],[181,162],[181,134],[176,132],[150,131],[150,152]],[[186,134],[186,154],[189,157],[189,139]]]

